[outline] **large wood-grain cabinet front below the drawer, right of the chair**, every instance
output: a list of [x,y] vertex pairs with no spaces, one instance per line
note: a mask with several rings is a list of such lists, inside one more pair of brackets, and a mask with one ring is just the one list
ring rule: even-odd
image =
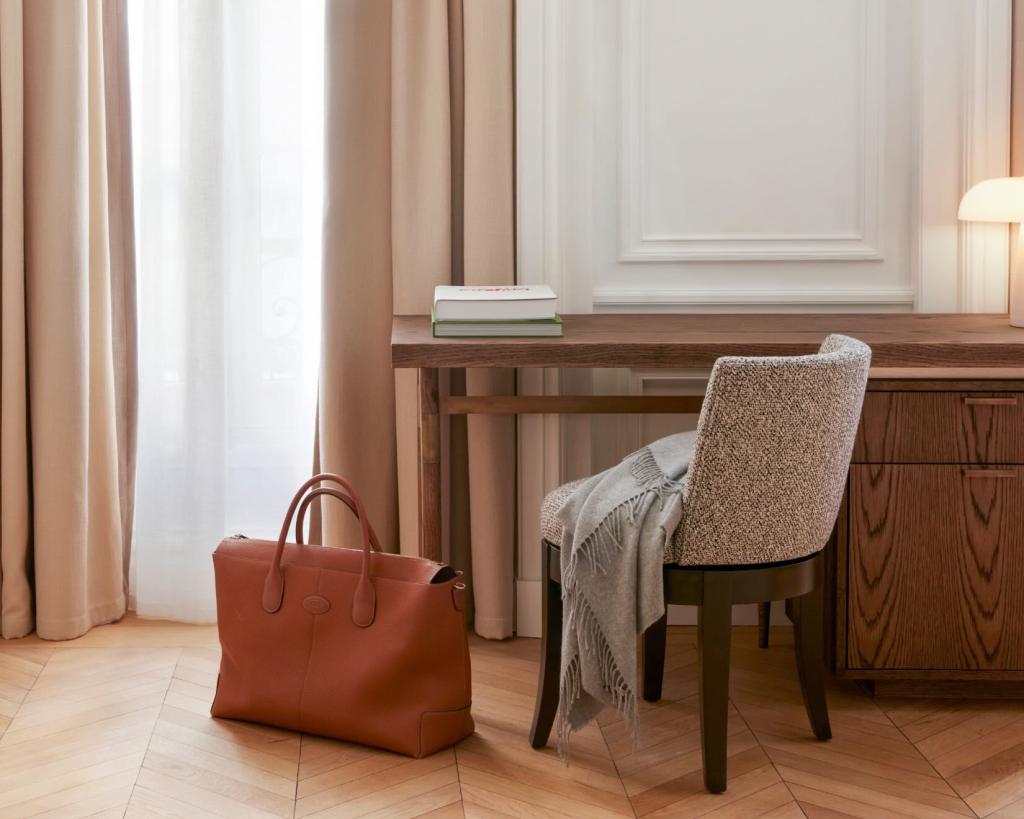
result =
[[1024,670],[1024,468],[854,465],[851,669]]

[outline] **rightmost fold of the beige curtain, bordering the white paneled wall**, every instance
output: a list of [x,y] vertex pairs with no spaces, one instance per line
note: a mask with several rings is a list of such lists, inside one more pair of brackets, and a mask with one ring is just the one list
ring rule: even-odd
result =
[[[512,4],[463,6],[463,284],[515,283]],[[468,370],[470,394],[515,392],[512,370]],[[514,416],[469,416],[474,628],[512,634],[515,597]],[[482,564],[482,565],[481,565]]]

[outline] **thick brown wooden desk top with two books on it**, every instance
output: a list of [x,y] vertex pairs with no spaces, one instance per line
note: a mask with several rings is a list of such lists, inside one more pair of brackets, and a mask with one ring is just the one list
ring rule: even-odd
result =
[[750,313],[563,315],[560,339],[435,339],[396,315],[396,368],[710,368],[722,355],[805,355],[829,333],[871,347],[876,368],[1024,368],[1024,329],[1005,314]]

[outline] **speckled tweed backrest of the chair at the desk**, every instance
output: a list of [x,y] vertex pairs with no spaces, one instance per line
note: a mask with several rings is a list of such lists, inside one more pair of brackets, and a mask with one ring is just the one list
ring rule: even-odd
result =
[[719,358],[673,558],[758,564],[822,549],[839,512],[871,360],[829,336],[815,355]]

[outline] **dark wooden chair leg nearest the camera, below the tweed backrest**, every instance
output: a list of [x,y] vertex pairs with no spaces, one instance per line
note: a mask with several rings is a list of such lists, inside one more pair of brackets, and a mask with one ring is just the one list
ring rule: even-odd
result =
[[697,617],[705,787],[712,793],[721,793],[728,778],[729,650],[732,639],[732,588],[728,572],[703,572],[703,592]]

